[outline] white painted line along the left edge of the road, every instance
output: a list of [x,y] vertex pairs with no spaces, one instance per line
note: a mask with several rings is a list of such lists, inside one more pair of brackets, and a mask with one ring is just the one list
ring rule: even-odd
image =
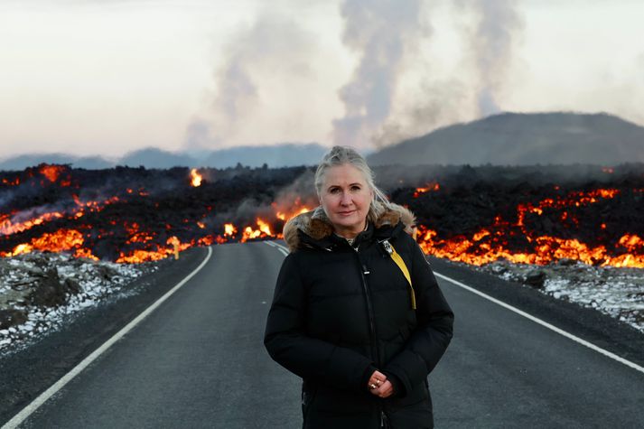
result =
[[90,354],[87,358],[83,359],[76,367],[72,368],[70,372],[62,376],[62,378],[59,379],[56,383],[54,383],[50,388],[42,392],[40,396],[33,399],[31,404],[29,404],[28,406],[25,406],[20,413],[18,413],[17,415],[14,415],[14,418],[12,418],[7,423],[5,423],[5,425],[2,426],[2,429],[14,429],[15,427],[18,426],[18,424],[23,423],[23,421],[27,417],[29,417],[29,415],[32,415],[33,412],[36,411],[40,406],[42,406],[42,404],[47,402],[47,400],[51,396],[55,395],[59,390],[61,390],[62,387],[64,387],[67,383],[69,383],[73,378],[78,376],[80,371],[87,368],[90,363],[92,363],[107,349],[109,349],[115,342],[117,342],[117,340],[120,340],[124,335],[126,335],[127,332],[131,331],[138,323],[143,321],[145,317],[147,317],[151,312],[154,312],[154,310],[159,305],[161,305],[163,301],[168,299],[170,295],[174,294],[177,290],[179,290],[179,288],[182,287],[183,284],[188,283],[188,281],[194,275],[199,273],[201,271],[201,268],[203,268],[208,263],[208,261],[210,260],[210,256],[212,256],[212,248],[208,247],[208,255],[205,257],[205,259],[203,259],[201,264],[191,272],[191,274],[186,275],[181,282],[176,284],[171,290],[169,290],[161,298],[156,300],[156,302],[150,305],[147,309],[145,309],[144,312],[136,316],[135,320],[127,323],[125,328],[121,329],[121,331],[118,331],[116,334],[114,334],[112,338],[105,341],[103,345],[101,345],[97,350],[94,350],[92,354]]

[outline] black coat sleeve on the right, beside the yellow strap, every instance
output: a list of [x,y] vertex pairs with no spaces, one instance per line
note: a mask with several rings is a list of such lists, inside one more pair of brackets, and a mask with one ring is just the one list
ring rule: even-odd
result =
[[443,356],[452,340],[454,318],[425,254],[415,242],[411,246],[411,277],[416,294],[418,324],[405,348],[384,368],[400,380],[406,392],[410,392],[415,384],[425,381]]

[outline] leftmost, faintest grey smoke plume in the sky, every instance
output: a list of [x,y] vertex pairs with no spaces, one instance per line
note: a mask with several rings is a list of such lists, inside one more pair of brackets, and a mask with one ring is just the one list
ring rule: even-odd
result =
[[[255,23],[240,29],[227,43],[226,60],[215,72],[210,111],[195,117],[187,127],[186,145],[200,149],[227,146],[252,129],[259,114],[276,102],[275,79],[288,82],[294,74],[305,73],[311,45],[310,34],[301,26],[271,12],[259,14]],[[257,143],[261,142],[244,141],[243,145]]]

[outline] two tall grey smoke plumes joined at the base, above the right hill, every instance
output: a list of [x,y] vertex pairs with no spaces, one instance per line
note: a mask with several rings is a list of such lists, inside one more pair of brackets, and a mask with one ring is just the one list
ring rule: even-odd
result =
[[[422,0],[402,4],[395,0],[369,4],[345,0],[342,4],[343,42],[358,51],[361,59],[340,91],[346,114],[333,121],[336,144],[380,147],[426,133],[439,124],[470,118],[470,112],[479,117],[499,113],[499,94],[523,26],[516,0],[459,0],[456,6],[471,14],[474,22],[473,28],[465,31],[474,80],[437,79],[430,70],[411,104],[398,107],[400,113],[391,115],[398,80],[405,71],[405,54],[426,31],[419,18],[423,5]],[[476,97],[469,93],[476,93]]]

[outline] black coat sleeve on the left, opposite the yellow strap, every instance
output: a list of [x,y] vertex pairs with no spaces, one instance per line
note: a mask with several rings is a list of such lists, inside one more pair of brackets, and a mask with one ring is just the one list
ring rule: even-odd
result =
[[365,374],[373,368],[371,360],[356,351],[307,336],[306,295],[294,254],[286,256],[266,321],[264,344],[268,354],[301,378],[344,390],[363,390]]

